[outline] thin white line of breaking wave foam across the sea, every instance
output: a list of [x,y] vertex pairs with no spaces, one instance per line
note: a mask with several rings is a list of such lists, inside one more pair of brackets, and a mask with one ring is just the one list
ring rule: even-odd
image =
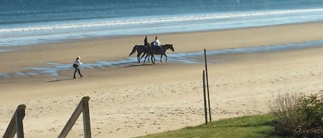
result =
[[86,27],[117,27],[122,25],[143,25],[143,24],[158,24],[158,23],[178,23],[178,22],[193,22],[193,21],[209,21],[217,19],[235,19],[238,17],[253,17],[267,16],[279,14],[300,14],[305,12],[323,12],[320,9],[305,9],[305,10],[275,10],[263,12],[233,12],[233,13],[215,13],[215,14],[196,14],[170,17],[142,17],[143,19],[114,19],[110,21],[83,21],[76,23],[59,23],[56,25],[34,25],[29,27],[8,27],[1,28],[0,33],[8,32],[28,32],[42,30],[64,30],[71,28],[86,28]]

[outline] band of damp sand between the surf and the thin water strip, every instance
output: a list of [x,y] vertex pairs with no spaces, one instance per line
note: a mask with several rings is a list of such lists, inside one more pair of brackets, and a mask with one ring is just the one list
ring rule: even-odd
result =
[[[212,51],[218,49],[232,49],[240,47],[323,40],[323,33],[312,29],[320,27],[323,27],[322,22],[267,27],[251,27],[214,32],[160,34],[160,38],[162,39],[160,41],[162,41],[162,43],[173,43],[175,53],[202,51],[202,49],[204,48]],[[298,28],[301,29],[298,30]],[[251,33],[246,35],[244,34],[244,32]],[[154,36],[148,36],[148,38],[153,37]],[[85,62],[96,62],[100,60],[122,60],[127,58],[127,55],[129,55],[129,52],[134,45],[143,45],[143,38],[144,36],[130,36],[122,38],[84,40],[68,43],[50,43],[43,45],[8,47],[6,49],[12,51],[1,53],[3,58],[0,58],[0,62],[6,62],[6,60],[19,60],[19,57],[12,56],[17,54],[21,57],[21,59],[27,59],[28,62],[32,64],[32,66],[21,64],[17,65],[12,63],[12,65],[8,65],[8,67],[11,67],[10,69],[8,69],[8,67],[5,67],[4,69],[1,69],[1,71],[17,71],[17,69],[12,69],[12,67],[44,67],[43,64],[45,62],[45,59],[47,59],[46,62],[59,62],[67,64],[70,61],[66,60],[72,60],[74,56],[84,56],[86,59]],[[254,41],[253,39],[256,39],[258,41]],[[153,40],[149,39],[149,42],[150,41]],[[209,42],[209,45],[206,45],[205,42]],[[65,51],[62,52],[59,49],[65,49]],[[88,52],[84,52],[83,49],[89,50]],[[101,49],[103,49],[104,51]],[[44,53],[46,52],[48,53],[48,55],[45,56],[38,54],[36,59],[32,59],[30,58],[30,54],[32,54],[34,51]],[[74,54],[74,56],[72,56],[72,54]],[[28,65],[30,65],[30,63]]]

